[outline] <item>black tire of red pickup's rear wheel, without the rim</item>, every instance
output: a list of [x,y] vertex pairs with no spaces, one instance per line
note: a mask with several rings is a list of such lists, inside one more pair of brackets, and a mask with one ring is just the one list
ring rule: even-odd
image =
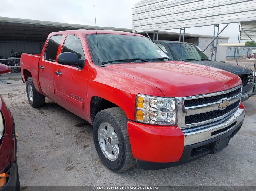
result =
[[[29,85],[31,85],[32,87],[32,90],[33,90],[33,101],[30,100],[29,98],[29,95],[28,95],[28,87]],[[29,104],[32,106],[32,107],[40,107],[40,106],[43,106],[45,104],[45,96],[38,93],[35,89],[35,85],[34,85],[34,82],[33,82],[33,79],[32,77],[29,77],[27,79],[27,82],[26,82],[26,91],[27,91],[27,97],[28,97],[28,102]]]

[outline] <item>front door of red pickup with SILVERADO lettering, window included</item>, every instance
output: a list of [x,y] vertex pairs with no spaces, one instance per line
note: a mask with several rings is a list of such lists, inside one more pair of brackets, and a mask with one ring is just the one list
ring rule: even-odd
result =
[[[81,38],[83,37],[81,36]],[[60,52],[76,53],[79,59],[85,60],[81,40],[74,34],[66,36]],[[85,63],[85,67],[82,70],[75,66],[56,63],[55,72],[54,86],[55,94],[59,99],[58,104],[85,118],[88,63]]]

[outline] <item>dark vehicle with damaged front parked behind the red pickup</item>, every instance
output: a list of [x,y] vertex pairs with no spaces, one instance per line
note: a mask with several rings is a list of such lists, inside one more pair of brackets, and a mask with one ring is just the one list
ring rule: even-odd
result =
[[238,75],[243,83],[241,101],[248,100],[252,94],[252,71],[238,65],[231,65],[222,62],[211,61],[200,48],[192,43],[178,41],[153,41],[165,53],[168,53],[173,60],[192,62],[196,64],[211,66]]

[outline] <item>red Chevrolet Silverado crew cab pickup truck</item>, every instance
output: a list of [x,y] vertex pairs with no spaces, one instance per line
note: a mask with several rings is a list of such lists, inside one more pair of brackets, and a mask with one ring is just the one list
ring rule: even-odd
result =
[[93,125],[99,158],[113,171],[215,154],[245,116],[237,75],[172,61],[135,33],[51,33],[41,56],[22,54],[21,72],[32,107],[48,97]]

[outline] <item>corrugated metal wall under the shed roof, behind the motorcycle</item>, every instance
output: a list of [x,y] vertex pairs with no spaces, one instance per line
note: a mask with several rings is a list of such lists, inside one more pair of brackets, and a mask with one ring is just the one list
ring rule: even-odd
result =
[[11,49],[25,53],[41,53],[44,44],[34,42],[0,42],[0,56],[3,58],[12,56]]

